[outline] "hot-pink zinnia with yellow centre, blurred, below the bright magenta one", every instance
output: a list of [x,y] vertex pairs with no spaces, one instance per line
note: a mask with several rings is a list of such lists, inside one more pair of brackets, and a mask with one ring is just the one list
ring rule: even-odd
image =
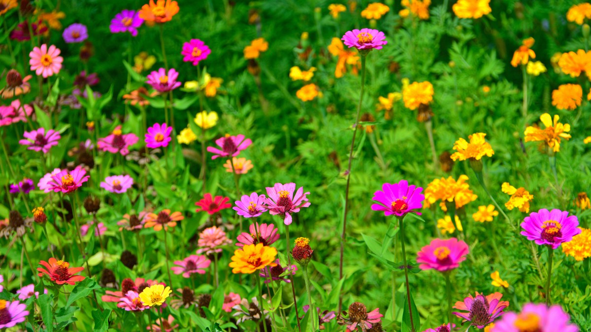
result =
[[447,240],[434,239],[417,253],[417,263],[421,270],[436,269],[448,271],[460,266],[466,260],[469,249],[466,242],[455,237]]

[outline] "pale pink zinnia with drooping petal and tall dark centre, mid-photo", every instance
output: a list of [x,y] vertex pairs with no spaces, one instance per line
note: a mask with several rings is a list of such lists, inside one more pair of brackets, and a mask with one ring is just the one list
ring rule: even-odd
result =
[[296,184],[293,182],[286,184],[275,183],[274,187],[267,187],[269,198],[264,198],[269,213],[278,214],[286,225],[291,224],[292,213],[299,212],[301,207],[310,206],[310,202],[306,198],[306,195],[310,194],[310,192],[304,193],[304,187],[300,187],[294,196],[295,190]]

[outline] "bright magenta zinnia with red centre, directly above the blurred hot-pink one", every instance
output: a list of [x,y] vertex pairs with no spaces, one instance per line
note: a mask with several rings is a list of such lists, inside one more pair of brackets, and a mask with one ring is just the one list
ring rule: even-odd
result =
[[405,216],[409,212],[421,215],[418,211],[423,208],[425,196],[421,194],[423,188],[408,185],[407,180],[401,180],[399,183],[384,183],[382,190],[374,193],[372,200],[378,204],[372,204],[374,211],[384,211],[386,216],[395,214],[396,216]]

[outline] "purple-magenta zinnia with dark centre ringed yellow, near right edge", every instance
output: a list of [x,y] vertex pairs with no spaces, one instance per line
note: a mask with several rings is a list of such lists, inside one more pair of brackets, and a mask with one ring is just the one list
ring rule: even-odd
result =
[[541,209],[530,213],[523,221],[521,235],[534,240],[537,245],[548,245],[552,249],[558,248],[560,243],[570,242],[573,236],[581,233],[579,219],[569,216],[569,211]]

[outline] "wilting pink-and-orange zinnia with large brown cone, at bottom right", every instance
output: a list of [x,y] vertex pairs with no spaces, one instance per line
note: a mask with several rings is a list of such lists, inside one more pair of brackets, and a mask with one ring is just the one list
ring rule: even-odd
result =
[[503,310],[509,306],[509,301],[501,301],[503,294],[496,292],[486,297],[476,292],[476,297],[468,295],[463,302],[456,302],[453,307],[457,310],[468,311],[467,313],[453,314],[463,318],[462,324],[467,321],[470,326],[484,328],[491,324],[497,317],[503,314]]

